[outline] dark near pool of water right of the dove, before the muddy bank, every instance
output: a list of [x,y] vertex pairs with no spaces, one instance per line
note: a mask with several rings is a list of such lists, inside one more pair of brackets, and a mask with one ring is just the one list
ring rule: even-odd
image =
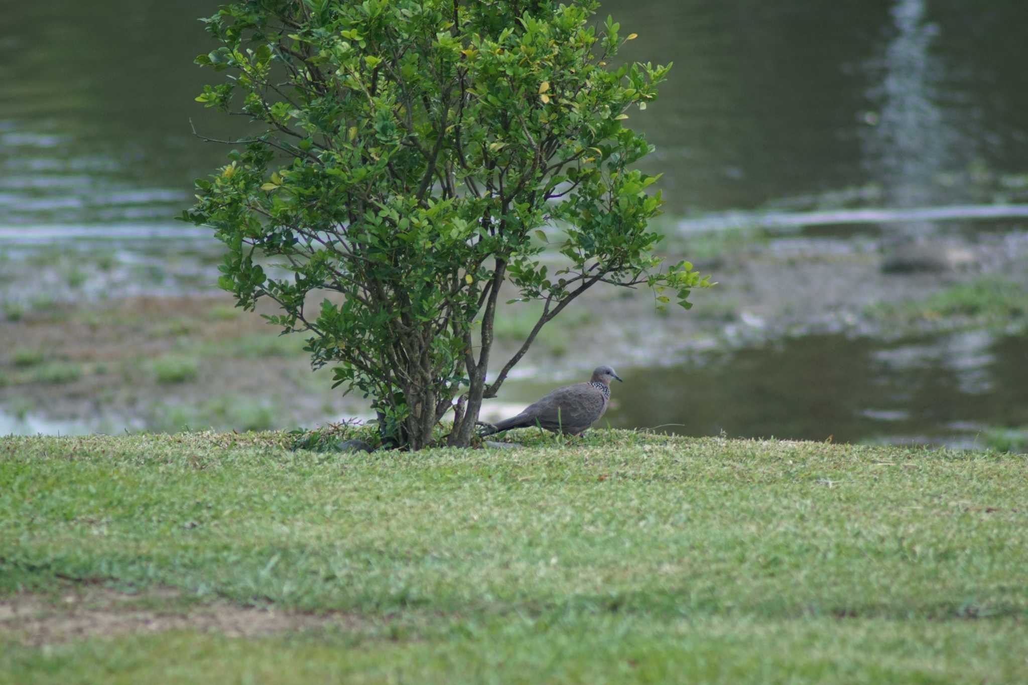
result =
[[[1028,337],[814,335],[670,369],[619,369],[600,425],[686,435],[985,447],[1028,425]],[[522,382],[534,399],[552,382]]]

